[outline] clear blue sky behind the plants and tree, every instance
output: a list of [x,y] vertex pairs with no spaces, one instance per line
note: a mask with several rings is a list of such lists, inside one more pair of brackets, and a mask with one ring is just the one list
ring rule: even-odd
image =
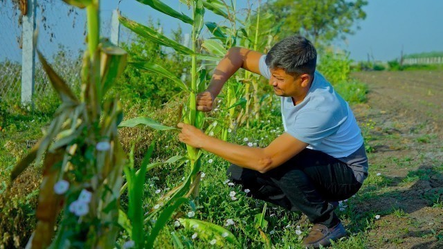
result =
[[[0,62],[4,59],[21,61],[17,48],[19,28],[15,26],[17,17],[12,15],[10,3],[0,3]],[[109,33],[111,11],[117,8],[117,0],[101,1],[102,3],[102,35]],[[164,0],[174,9],[190,15],[188,7],[179,0]],[[258,1],[237,0],[237,10],[242,10],[252,3],[256,8]],[[366,19],[359,21],[361,27],[355,30],[354,35],[347,36],[345,41],[334,41],[338,48],[350,52],[350,58],[356,61],[371,59],[388,61],[404,54],[443,51],[443,0],[368,0],[368,6],[363,10]],[[151,17],[160,20],[165,34],[177,29],[180,21],[163,15],[135,0],[120,1],[120,11],[129,19],[146,24]],[[39,11],[37,10],[37,13]],[[44,34],[42,30],[39,37],[39,47],[46,53],[53,53],[57,43],[64,44],[71,50],[83,48],[84,42],[84,11],[79,10],[78,15],[66,15],[64,3],[55,2],[45,10],[47,24],[52,26],[53,42],[51,35]],[[210,11],[206,13],[206,20],[222,21],[220,17]],[[41,20],[37,14],[37,21]],[[73,19],[75,18],[75,21]],[[15,21],[15,22],[14,22]],[[190,26],[182,25],[183,32],[189,33]]]

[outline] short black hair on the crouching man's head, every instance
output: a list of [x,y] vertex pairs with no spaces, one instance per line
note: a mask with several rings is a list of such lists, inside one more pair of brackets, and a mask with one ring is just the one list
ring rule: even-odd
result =
[[317,63],[317,51],[308,39],[293,35],[275,44],[266,55],[269,68],[282,68],[286,73],[314,75]]

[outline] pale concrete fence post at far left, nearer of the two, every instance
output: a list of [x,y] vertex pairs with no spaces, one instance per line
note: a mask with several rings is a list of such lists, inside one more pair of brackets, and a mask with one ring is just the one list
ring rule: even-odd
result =
[[21,50],[21,104],[33,105],[35,86],[35,9],[36,0],[28,0],[28,12],[23,16]]

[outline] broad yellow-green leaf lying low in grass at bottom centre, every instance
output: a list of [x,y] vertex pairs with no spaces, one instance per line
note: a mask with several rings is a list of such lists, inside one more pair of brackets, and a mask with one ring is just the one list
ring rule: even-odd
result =
[[241,246],[241,244],[235,238],[234,234],[219,225],[215,225],[206,221],[199,221],[197,219],[186,218],[179,219],[179,222],[187,228],[193,228],[194,230],[197,230],[201,239],[210,240],[214,237],[217,237],[217,244],[219,246],[224,245],[224,243],[222,242],[224,239],[229,243],[235,244],[236,246]]

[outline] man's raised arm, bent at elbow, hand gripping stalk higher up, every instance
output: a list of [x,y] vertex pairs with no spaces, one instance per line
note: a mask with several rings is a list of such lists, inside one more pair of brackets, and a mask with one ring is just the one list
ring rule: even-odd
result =
[[259,61],[262,55],[247,48],[229,48],[228,53],[215,68],[208,89],[197,95],[197,110],[210,111],[213,108],[213,100],[219,95],[221,88],[239,68],[260,74]]

